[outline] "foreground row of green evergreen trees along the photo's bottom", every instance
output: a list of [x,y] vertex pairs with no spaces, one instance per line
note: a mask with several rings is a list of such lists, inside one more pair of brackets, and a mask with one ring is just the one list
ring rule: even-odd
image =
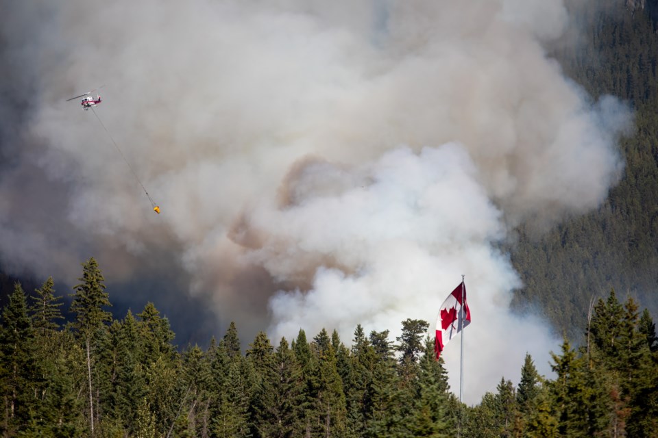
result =
[[[656,437],[658,339],[646,311],[599,300],[578,349],[552,354],[555,379],[526,355],[520,382],[467,407],[449,391],[428,322],[400,337],[358,325],[351,347],[323,329],[243,348],[236,324],[202,350],[171,344],[152,303],[123,320],[103,274],[82,264],[64,320],[53,279],[14,286],[0,326],[4,437]],[[244,352],[243,352],[244,351]],[[520,364],[521,365],[521,364]]]

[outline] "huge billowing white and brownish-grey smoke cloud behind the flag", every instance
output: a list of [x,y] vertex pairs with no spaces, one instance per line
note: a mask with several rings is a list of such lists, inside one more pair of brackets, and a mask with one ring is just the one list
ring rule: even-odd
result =
[[[393,339],[406,318],[433,324],[465,274],[465,400],[518,376],[526,351],[548,371],[557,342],[509,311],[520,281],[496,247],[517,224],[599,205],[629,118],[614,99],[589,102],[546,56],[541,44],[568,24],[562,1],[44,10],[49,31],[28,63],[42,92],[21,163],[66,188],[58,214],[29,219],[62,235],[36,239],[27,215],[0,203],[5,265],[64,270],[53,254],[82,261],[93,248],[108,279],[129,281],[141,261],[157,270],[153,260],[175,257],[217,318],[243,333],[269,327],[275,342],[322,327],[349,341],[358,323]],[[94,114],[63,102],[103,84],[95,111],[159,216]]]

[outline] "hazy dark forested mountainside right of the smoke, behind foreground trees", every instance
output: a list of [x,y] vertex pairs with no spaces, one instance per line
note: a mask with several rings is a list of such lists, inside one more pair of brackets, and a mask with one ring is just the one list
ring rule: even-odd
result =
[[632,105],[636,129],[621,144],[622,180],[598,211],[541,237],[522,230],[511,252],[524,282],[515,305],[538,303],[559,331],[581,342],[590,300],[611,289],[658,311],[658,34],[655,1],[644,10],[615,0],[572,3],[579,39],[552,55],[594,99],[612,94]]

